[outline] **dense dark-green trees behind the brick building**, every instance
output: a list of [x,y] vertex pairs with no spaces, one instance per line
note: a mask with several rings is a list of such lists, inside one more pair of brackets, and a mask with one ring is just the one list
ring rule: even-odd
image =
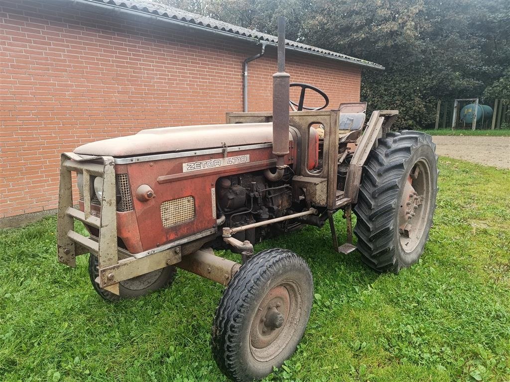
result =
[[160,1],[273,35],[284,15],[289,39],[384,65],[361,97],[398,109],[400,128],[432,125],[438,100],[507,98],[507,0]]

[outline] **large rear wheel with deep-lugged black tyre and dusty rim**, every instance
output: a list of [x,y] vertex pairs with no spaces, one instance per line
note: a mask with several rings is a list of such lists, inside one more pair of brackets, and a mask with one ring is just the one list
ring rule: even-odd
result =
[[354,234],[362,260],[397,273],[423,253],[438,192],[438,156],[430,135],[390,132],[363,168]]

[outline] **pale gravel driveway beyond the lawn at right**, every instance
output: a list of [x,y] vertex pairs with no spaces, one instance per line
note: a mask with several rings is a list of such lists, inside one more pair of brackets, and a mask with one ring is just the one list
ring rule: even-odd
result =
[[449,137],[434,135],[436,154],[484,166],[510,169],[510,137]]

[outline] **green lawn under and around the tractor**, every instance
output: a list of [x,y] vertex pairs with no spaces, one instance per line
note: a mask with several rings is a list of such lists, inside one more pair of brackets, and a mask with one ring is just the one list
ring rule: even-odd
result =
[[[333,252],[326,227],[257,246],[307,259],[316,293],[298,350],[266,380],[510,380],[510,172],[446,158],[440,171],[425,253],[399,275]],[[221,286],[180,271],[170,289],[106,303],[86,256],[57,263],[55,227],[0,232],[0,380],[224,380],[209,348]]]

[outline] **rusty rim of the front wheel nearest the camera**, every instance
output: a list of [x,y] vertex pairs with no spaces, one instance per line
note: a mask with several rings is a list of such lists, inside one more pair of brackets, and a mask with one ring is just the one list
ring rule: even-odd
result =
[[254,359],[268,362],[278,356],[296,332],[302,314],[298,285],[286,280],[266,293],[251,322],[250,351]]

